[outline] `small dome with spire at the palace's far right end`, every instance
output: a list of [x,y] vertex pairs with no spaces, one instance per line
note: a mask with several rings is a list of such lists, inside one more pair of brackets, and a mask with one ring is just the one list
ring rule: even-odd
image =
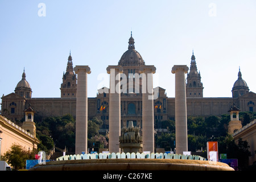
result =
[[238,72],[238,79],[236,82],[234,82],[233,88],[232,88],[232,97],[238,98],[240,96],[243,96],[244,94],[249,92],[249,87],[246,84],[245,80],[242,79],[242,73],[239,68]]

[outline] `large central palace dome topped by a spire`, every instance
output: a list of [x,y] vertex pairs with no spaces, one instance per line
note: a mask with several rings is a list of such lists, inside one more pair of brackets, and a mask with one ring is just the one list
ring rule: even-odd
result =
[[128,50],[125,53],[123,53],[121,59],[118,62],[118,65],[121,65],[122,67],[144,65],[145,62],[142,59],[142,56],[139,54],[138,51],[135,50],[134,38],[132,34],[128,43],[129,43]]

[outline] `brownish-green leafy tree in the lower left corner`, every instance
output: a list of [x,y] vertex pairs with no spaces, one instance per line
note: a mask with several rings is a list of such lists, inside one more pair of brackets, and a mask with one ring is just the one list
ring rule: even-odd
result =
[[14,143],[10,150],[8,150],[3,156],[3,160],[7,163],[11,164],[13,169],[19,170],[24,169],[26,167],[26,160],[34,159],[35,151],[26,150],[22,148],[19,144]]

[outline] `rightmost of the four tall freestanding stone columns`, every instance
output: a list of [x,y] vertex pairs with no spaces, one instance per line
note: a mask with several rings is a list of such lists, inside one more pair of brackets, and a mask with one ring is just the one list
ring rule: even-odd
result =
[[176,130],[176,154],[188,151],[187,133],[187,98],[185,73],[187,65],[174,65],[172,73],[175,74],[175,130]]

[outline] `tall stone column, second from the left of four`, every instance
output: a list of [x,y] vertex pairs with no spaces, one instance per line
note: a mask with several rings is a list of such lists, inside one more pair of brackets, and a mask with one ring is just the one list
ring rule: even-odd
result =
[[121,88],[120,73],[121,66],[109,66],[106,68],[110,74],[109,93],[109,151],[120,152],[119,136],[121,135]]

